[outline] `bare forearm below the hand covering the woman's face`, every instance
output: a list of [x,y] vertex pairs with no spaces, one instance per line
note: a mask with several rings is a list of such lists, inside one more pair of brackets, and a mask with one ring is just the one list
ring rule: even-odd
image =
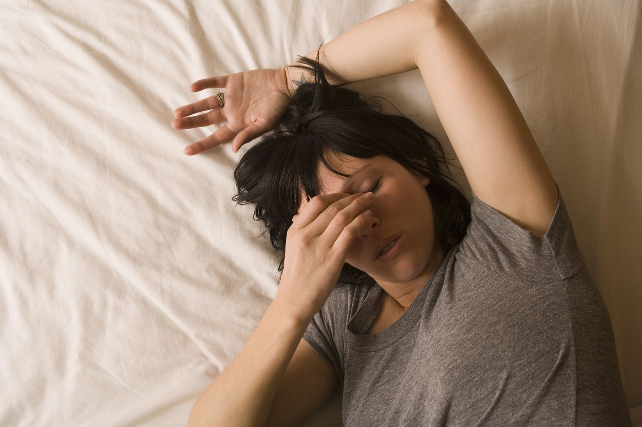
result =
[[288,314],[286,308],[277,295],[241,353],[198,398],[188,427],[265,425],[309,324]]

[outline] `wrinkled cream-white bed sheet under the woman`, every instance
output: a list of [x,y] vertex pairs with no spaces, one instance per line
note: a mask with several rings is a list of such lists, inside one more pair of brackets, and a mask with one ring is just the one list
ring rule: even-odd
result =
[[[198,78],[282,67],[403,3],[0,0],[1,426],[186,423],[275,296],[277,258],[231,200],[254,142],[184,156],[216,126],[173,130],[173,109],[216,92],[189,92]],[[642,406],[642,5],[451,4],[564,192]],[[419,71],[349,87],[454,156]],[[322,412],[306,425],[339,424],[340,396]]]

